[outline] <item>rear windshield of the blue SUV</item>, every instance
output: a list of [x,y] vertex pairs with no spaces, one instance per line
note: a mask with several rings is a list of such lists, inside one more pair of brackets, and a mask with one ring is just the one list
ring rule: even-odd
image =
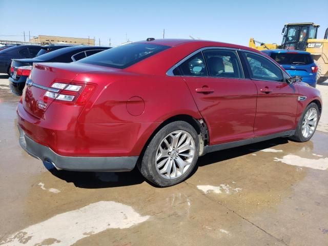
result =
[[298,65],[309,65],[314,61],[310,54],[302,53],[271,53],[271,58],[273,58],[279,64],[298,64]]

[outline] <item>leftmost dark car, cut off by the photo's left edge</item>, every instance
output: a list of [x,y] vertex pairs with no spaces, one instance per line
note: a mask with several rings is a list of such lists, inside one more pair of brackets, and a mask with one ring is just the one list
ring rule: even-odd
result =
[[18,45],[0,51],[0,73],[10,75],[11,59],[33,58],[40,51],[39,45]]

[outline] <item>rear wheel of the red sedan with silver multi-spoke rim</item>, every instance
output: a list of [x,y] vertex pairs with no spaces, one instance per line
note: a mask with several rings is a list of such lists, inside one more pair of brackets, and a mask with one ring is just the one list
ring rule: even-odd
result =
[[138,169],[156,186],[169,187],[191,174],[198,156],[199,137],[196,130],[186,121],[174,121],[154,135],[138,163]]

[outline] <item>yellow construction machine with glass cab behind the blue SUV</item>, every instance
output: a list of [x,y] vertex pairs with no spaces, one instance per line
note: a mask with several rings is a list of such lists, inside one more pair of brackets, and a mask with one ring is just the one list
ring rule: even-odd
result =
[[[257,50],[286,49],[304,50],[311,53],[318,66],[317,81],[324,81],[328,77],[328,28],[323,39],[317,39],[319,25],[314,23],[289,23],[285,24],[281,34],[283,35],[281,45],[264,44],[250,39],[250,47]],[[259,43],[260,46],[256,46]]]

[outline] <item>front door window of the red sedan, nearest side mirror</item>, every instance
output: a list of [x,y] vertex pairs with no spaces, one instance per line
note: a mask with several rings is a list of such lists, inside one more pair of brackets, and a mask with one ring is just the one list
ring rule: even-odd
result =
[[258,80],[283,81],[282,71],[272,61],[260,55],[244,52],[251,69],[251,78]]

